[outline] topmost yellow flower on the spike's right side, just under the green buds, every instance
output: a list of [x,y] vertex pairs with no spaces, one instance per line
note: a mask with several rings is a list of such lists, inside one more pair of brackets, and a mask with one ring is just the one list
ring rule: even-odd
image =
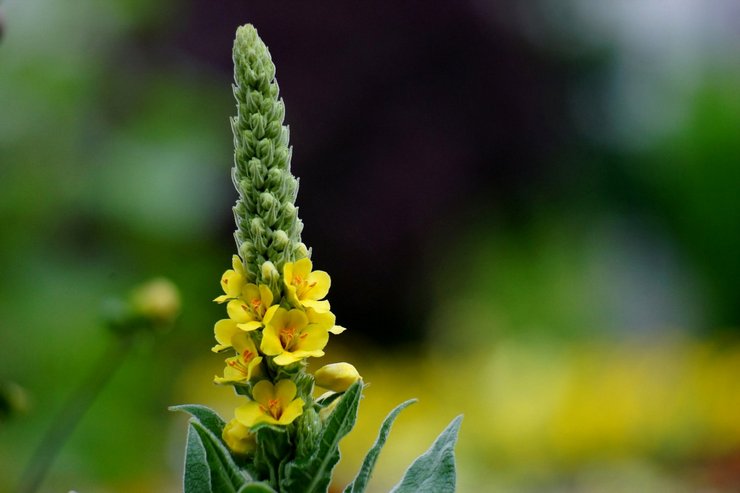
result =
[[295,306],[313,308],[317,312],[328,312],[329,302],[322,300],[329,293],[331,278],[323,270],[311,271],[313,264],[308,258],[288,262],[283,266],[283,277],[288,299]]

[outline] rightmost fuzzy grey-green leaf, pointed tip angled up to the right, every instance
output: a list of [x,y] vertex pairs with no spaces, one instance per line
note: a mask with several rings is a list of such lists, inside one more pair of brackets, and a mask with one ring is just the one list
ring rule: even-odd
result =
[[451,493],[455,491],[455,442],[462,416],[437,437],[429,450],[420,455],[406,470],[401,482],[391,493]]

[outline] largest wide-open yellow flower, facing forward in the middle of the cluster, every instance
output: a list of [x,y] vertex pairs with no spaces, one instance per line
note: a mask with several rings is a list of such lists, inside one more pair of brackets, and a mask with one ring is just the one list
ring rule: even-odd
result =
[[[313,312],[309,310],[309,314]],[[329,342],[329,327],[333,325],[326,314],[313,313],[309,318],[306,312],[278,308],[266,319],[262,332],[261,351],[278,365],[289,365],[309,356],[324,355],[324,346]],[[331,315],[333,318],[333,315]]]

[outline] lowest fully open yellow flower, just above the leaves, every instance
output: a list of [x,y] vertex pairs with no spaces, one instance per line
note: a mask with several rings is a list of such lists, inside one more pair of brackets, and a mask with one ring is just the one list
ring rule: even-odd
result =
[[303,399],[295,398],[296,392],[291,380],[280,380],[275,386],[261,380],[252,389],[254,400],[236,409],[236,419],[250,428],[259,423],[290,424],[303,414]]

